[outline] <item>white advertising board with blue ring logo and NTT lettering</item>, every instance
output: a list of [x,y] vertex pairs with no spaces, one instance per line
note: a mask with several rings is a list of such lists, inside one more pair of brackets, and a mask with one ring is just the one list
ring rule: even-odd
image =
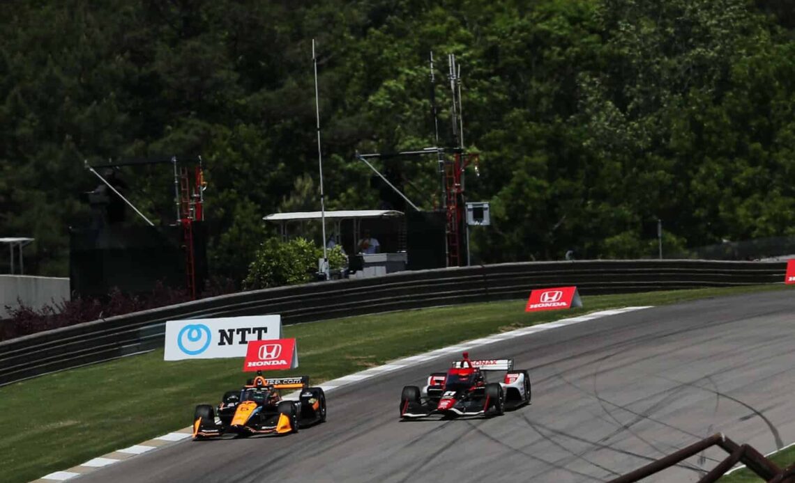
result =
[[252,340],[281,339],[281,316],[169,320],[165,323],[166,361],[246,357]]

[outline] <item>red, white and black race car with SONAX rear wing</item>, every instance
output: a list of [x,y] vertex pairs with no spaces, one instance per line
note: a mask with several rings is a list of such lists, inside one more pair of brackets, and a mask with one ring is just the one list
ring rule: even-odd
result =
[[[506,371],[500,382],[488,382],[490,371]],[[467,352],[452,363],[446,373],[428,377],[420,390],[416,385],[403,388],[401,419],[427,416],[500,416],[506,409],[530,403],[530,379],[526,370],[514,370],[513,359],[472,361]]]

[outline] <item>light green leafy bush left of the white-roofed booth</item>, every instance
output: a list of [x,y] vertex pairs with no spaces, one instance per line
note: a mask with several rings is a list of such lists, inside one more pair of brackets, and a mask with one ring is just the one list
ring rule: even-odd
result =
[[[323,247],[304,239],[281,242],[275,238],[262,243],[243,281],[245,289],[266,289],[311,282],[317,273],[317,260],[323,258]],[[328,265],[339,270],[346,263],[345,254],[337,246],[328,250]]]

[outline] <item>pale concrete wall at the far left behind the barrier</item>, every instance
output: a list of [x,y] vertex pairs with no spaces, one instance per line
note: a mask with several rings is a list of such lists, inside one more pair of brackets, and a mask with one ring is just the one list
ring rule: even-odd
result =
[[60,303],[69,299],[68,278],[0,275],[0,319],[8,316],[6,305],[17,307],[18,301],[41,309],[44,305],[52,305],[53,301]]

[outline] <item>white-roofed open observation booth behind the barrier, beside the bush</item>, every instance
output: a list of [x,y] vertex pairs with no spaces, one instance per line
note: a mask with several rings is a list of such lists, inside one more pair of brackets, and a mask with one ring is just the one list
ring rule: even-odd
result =
[[[327,239],[324,243],[332,239],[343,248],[348,257],[349,278],[374,277],[406,270],[408,255],[404,213],[392,209],[352,209],[327,210],[324,215]],[[262,219],[278,224],[282,240],[288,240],[297,233],[320,232],[322,218],[323,213],[320,211],[308,211],[272,213]],[[378,240],[377,253],[359,252],[359,240],[362,240],[366,231]],[[319,268],[322,263],[321,259]]]

